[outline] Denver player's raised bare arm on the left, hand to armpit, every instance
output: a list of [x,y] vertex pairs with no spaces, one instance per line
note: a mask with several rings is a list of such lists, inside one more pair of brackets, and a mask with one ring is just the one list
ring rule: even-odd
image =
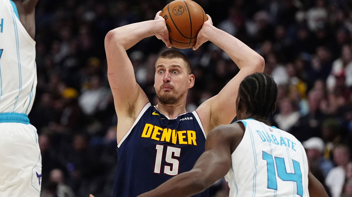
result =
[[[136,116],[148,99],[136,82],[132,63],[126,50],[138,41],[156,35],[171,46],[165,20],[157,13],[155,20],[138,22],[115,28],[105,37],[108,80],[114,96],[115,109],[120,117]],[[122,115],[122,116],[119,116]]]

